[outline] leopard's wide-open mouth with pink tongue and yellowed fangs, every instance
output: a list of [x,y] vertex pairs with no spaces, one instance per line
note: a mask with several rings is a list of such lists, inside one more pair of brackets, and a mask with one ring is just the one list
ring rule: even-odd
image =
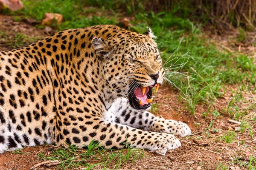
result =
[[151,106],[153,101],[152,88],[156,87],[156,92],[158,91],[159,84],[151,85],[148,87],[137,87],[133,92],[129,93],[129,102],[131,107],[134,109],[147,109]]

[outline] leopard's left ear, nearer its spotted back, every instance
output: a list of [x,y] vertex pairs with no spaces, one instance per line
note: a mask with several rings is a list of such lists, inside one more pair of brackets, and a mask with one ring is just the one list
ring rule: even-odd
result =
[[96,51],[96,55],[103,57],[110,51],[109,45],[105,43],[102,38],[94,37],[92,40],[93,49]]

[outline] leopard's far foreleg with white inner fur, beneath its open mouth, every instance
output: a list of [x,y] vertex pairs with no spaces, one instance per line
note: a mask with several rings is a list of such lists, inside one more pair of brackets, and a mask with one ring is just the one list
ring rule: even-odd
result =
[[139,112],[131,107],[128,99],[116,99],[114,105],[116,111],[113,112],[115,118],[112,120],[116,123],[154,132],[174,133],[181,137],[191,134],[189,126],[185,123],[164,119],[148,111]]

